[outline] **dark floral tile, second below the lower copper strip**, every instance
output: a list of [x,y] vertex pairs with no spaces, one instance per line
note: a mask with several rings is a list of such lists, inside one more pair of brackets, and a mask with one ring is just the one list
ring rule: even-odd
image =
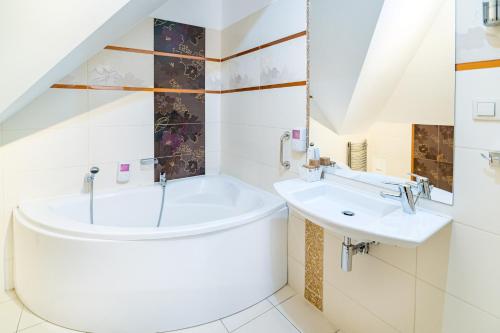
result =
[[205,149],[205,124],[155,126],[155,156],[192,155]]

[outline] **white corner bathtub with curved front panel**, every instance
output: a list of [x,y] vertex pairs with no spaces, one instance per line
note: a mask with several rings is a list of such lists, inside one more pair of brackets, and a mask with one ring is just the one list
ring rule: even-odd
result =
[[[96,180],[98,181],[98,179]],[[287,281],[287,208],[227,176],[20,204],[14,282],[40,317],[85,332],[164,332],[214,321]]]

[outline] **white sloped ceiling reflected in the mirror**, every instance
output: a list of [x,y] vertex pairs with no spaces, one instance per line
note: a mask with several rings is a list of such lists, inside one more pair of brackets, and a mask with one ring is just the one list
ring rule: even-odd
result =
[[321,1],[330,8],[320,13],[321,29],[328,31],[320,43],[313,35],[318,15],[313,3],[312,117],[337,134],[366,131],[384,110],[445,1]]

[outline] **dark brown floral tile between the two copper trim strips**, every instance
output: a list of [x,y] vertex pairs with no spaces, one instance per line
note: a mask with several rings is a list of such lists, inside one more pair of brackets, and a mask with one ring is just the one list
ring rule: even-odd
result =
[[205,62],[155,56],[155,88],[205,89]]

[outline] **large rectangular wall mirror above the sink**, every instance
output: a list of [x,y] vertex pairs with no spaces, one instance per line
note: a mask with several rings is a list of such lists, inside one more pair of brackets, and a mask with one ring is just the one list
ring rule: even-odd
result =
[[[335,174],[452,204],[453,0],[311,0],[309,140]],[[386,185],[387,186],[387,185]]]

